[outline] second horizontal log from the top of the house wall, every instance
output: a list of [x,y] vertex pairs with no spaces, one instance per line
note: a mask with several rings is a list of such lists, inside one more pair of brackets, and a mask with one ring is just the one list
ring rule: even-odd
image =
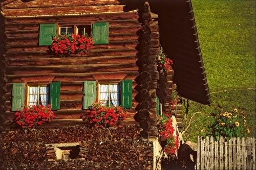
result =
[[109,6],[77,6],[77,7],[48,7],[29,9],[6,9],[6,16],[38,16],[38,15],[69,15],[123,12],[123,5]]

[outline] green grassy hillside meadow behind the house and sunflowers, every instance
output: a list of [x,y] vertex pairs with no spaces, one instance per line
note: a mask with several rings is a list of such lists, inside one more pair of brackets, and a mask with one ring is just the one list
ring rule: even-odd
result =
[[204,135],[208,115],[217,105],[227,110],[244,110],[250,136],[254,137],[255,1],[192,0],[192,3],[212,106],[190,102],[189,115],[201,113],[193,119],[184,138],[196,141],[197,135]]

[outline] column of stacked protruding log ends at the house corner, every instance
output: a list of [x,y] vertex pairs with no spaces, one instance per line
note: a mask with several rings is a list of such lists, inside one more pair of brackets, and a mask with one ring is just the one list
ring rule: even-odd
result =
[[142,18],[142,36],[141,50],[139,56],[140,76],[138,78],[140,85],[139,92],[139,111],[135,115],[135,120],[139,122],[145,136],[157,136],[156,128],[156,88],[158,80],[158,71],[156,69],[156,55],[159,52],[159,41],[157,48],[153,47],[152,42],[152,15],[150,6],[144,4],[144,13]]

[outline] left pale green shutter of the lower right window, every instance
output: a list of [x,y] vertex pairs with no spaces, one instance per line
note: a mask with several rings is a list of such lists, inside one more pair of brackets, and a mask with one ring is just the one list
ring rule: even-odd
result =
[[96,81],[83,83],[83,109],[87,109],[96,100]]

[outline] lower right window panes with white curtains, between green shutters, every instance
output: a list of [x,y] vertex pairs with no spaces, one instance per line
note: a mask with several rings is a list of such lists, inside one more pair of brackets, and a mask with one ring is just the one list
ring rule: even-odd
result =
[[99,101],[106,106],[119,106],[120,85],[118,83],[99,84]]

